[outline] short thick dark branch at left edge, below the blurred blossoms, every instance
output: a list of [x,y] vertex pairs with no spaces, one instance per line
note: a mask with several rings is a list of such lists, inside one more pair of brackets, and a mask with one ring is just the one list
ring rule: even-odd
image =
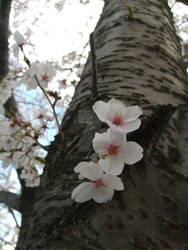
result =
[[0,191],[0,202],[7,205],[9,208],[13,208],[19,212],[20,210],[20,196],[8,191]]

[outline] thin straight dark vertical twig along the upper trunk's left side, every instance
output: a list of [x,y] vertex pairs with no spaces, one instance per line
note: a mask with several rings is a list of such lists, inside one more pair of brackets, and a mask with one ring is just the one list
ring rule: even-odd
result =
[[95,54],[95,38],[94,32],[90,34],[89,38],[90,48],[91,48],[91,71],[92,71],[92,95],[96,99],[98,90],[97,90],[97,66],[96,66],[96,54]]

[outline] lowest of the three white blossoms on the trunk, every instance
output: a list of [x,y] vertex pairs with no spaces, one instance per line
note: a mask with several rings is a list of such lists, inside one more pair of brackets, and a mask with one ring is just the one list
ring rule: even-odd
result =
[[72,199],[82,203],[93,199],[97,203],[110,201],[114,195],[114,190],[123,190],[121,179],[117,176],[103,172],[102,167],[96,163],[84,163],[83,167],[76,169],[83,177],[90,182],[83,182],[72,192]]

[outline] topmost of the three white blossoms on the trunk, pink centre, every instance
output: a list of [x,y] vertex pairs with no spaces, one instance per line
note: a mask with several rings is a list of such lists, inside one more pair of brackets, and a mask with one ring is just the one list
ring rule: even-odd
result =
[[129,133],[140,127],[138,117],[142,114],[139,106],[125,107],[124,103],[111,99],[110,101],[98,101],[93,105],[93,110],[98,118],[119,133]]

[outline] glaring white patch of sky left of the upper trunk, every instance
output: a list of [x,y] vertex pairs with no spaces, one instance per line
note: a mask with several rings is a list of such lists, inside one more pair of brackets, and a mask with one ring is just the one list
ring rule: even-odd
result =
[[[58,10],[61,2],[62,10]],[[62,62],[62,56],[77,51],[81,53],[101,13],[103,1],[28,1],[29,9],[20,12],[19,23],[11,15],[11,32],[31,33],[31,42],[41,61]],[[60,8],[60,7],[59,7]],[[36,18],[36,19],[35,19]],[[29,29],[29,31],[28,31]]]

